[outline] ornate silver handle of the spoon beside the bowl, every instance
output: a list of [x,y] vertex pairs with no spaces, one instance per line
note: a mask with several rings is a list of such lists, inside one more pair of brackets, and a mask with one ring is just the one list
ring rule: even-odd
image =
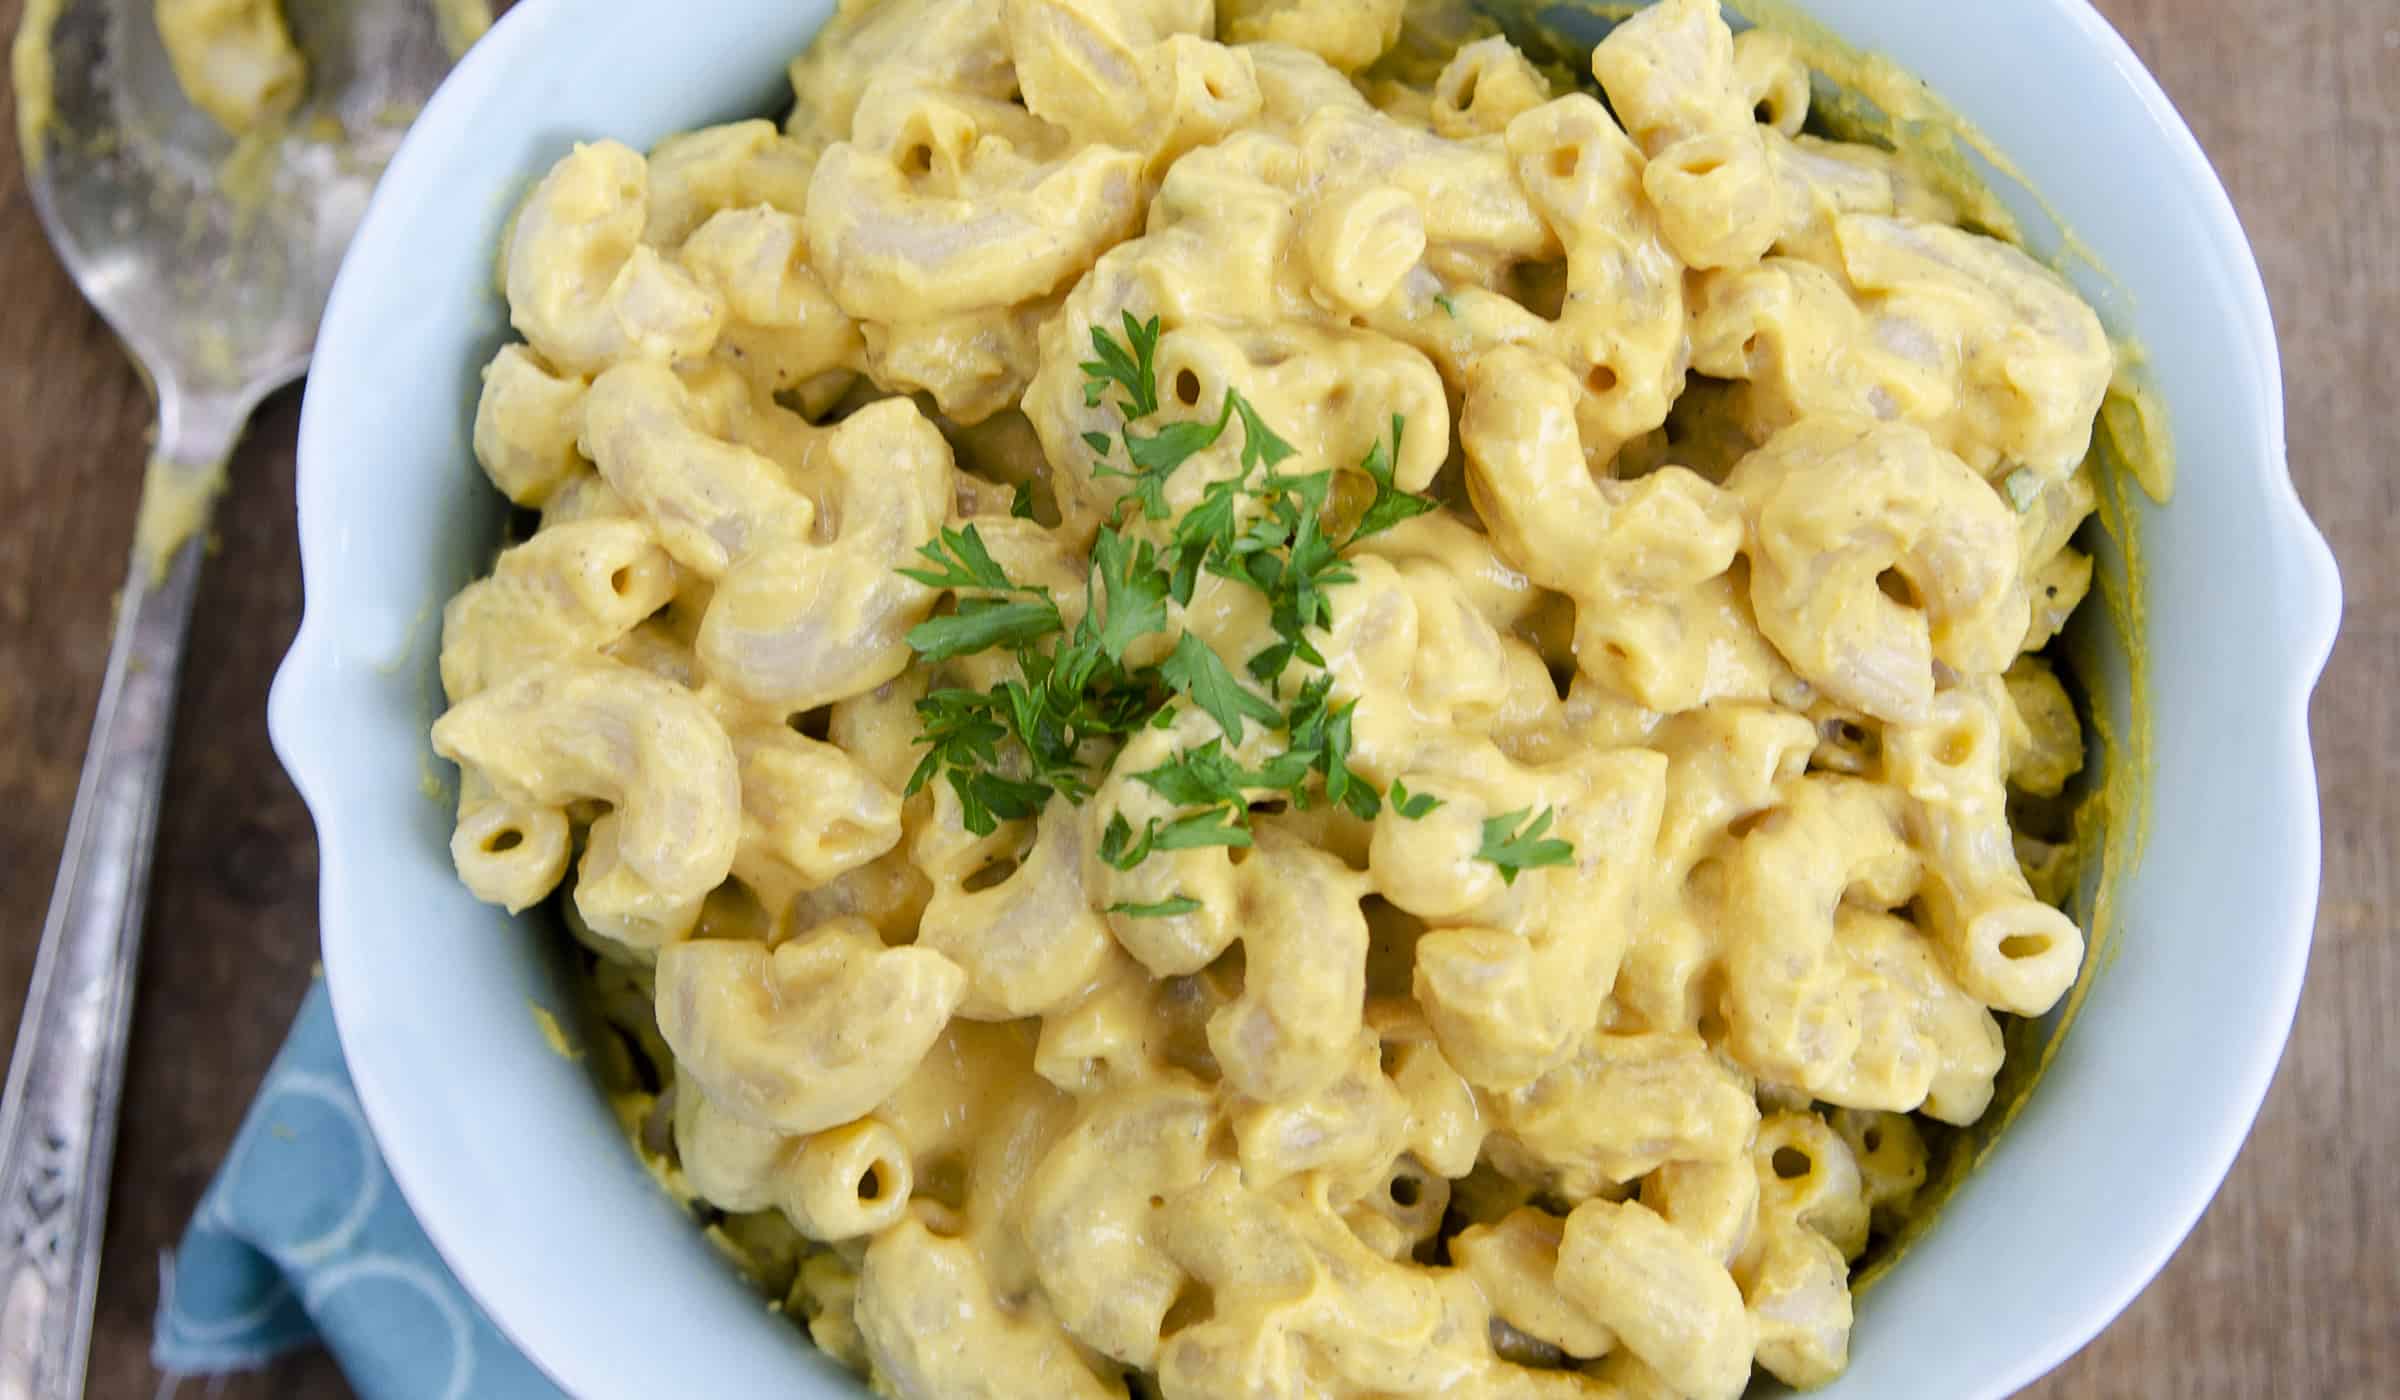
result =
[[[194,533],[197,536],[197,533]],[[0,1398],[84,1393],[142,905],[202,540],[134,550],[0,1100]]]

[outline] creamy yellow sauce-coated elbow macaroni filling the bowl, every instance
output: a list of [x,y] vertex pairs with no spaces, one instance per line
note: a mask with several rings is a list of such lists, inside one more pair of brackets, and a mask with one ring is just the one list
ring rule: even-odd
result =
[[[2035,653],[2090,586],[2093,312],[1805,132],[1711,0],[1618,26],[1606,106],[1498,36],[1351,77],[1394,43],[1397,0],[862,0],[790,122],[576,146],[506,238],[473,449],[540,528],[444,612],[454,860],[653,1004],[660,1169],[878,1393],[1824,1383],[1920,1121],[2081,968],[2011,800],[2083,764]],[[1274,752],[1190,699],[998,821],[924,783],[919,704],[1018,663],[924,660],[960,600],[900,569],[974,523],[1092,622],[1138,511],[1082,360],[1152,317],[1164,420],[1238,394],[1282,471],[1450,502],[1306,634],[1421,807],[1121,867],[1111,816],[1176,814],[1138,773]],[[1171,615],[1277,639],[1214,574]],[[1567,855],[1502,869],[1529,812]]]

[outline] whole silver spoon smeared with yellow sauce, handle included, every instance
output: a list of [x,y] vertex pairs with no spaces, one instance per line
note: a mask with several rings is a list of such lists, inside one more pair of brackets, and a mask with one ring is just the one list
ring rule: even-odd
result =
[[307,370],[374,178],[451,60],[427,0],[293,0],[288,19],[307,96],[281,134],[240,146],[185,101],[151,0],[29,0],[17,36],[34,209],[151,382],[158,427],[0,1102],[0,1400],[84,1390],[158,783],[209,507],[250,411]]

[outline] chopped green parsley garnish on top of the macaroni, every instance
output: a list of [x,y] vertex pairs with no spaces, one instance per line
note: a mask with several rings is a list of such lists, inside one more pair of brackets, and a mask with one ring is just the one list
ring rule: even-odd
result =
[[[974,526],[946,528],[924,545],[922,567],[902,569],[929,588],[955,593],[955,605],[910,629],[907,641],[929,665],[1003,651],[1015,675],[989,689],[941,687],[917,701],[924,759],[907,792],[946,780],[960,800],[967,831],[989,836],[1001,821],[1039,814],[1054,797],[1082,802],[1114,766],[1126,737],[1142,728],[1171,728],[1181,696],[1207,713],[1219,730],[1202,744],[1178,749],[1164,764],[1130,773],[1157,792],[1174,816],[1152,816],[1140,828],[1116,812],[1102,831],[1099,857],[1116,869],[1135,869],[1162,850],[1243,848],[1253,843],[1250,804],[1289,800],[1296,807],[1330,802],[1373,819],[1385,802],[1349,766],[1356,701],[1332,699],[1325,656],[1308,641],[1310,629],[1332,624],[1330,593],[1358,579],[1344,555],[1402,521],[1435,509],[1435,502],[1399,490],[1394,480],[1404,420],[1392,418],[1390,442],[1378,442],[1358,471],[1373,499],[1342,536],[1327,533],[1334,473],[1284,475],[1296,456],[1243,399],[1226,389],[1214,418],[1138,427],[1159,413],[1159,319],[1123,315],[1123,339],[1092,327],[1092,358],[1082,363],[1085,406],[1114,406],[1123,418],[1116,437],[1085,432],[1099,478],[1130,487],[1116,516],[1092,540],[1082,617],[1070,629],[1049,588],[1018,584],[991,557]],[[1207,483],[1176,514],[1166,485],[1193,456],[1241,425],[1234,475]],[[1121,451],[1118,451],[1121,449]],[[1118,459],[1126,466],[1118,466]],[[1164,523],[1164,543],[1126,533],[1126,514]],[[1032,487],[1020,487],[1010,514],[1032,514]],[[1188,605],[1200,574],[1255,588],[1267,598],[1274,641],[1248,656],[1243,675],[1190,632],[1174,634],[1174,648],[1154,665],[1133,665],[1135,644],[1174,632],[1174,605]],[[1145,656],[1157,656],[1145,648]],[[1306,675],[1289,704],[1284,677],[1294,665]],[[1236,759],[1248,725],[1284,735],[1279,752],[1255,768]],[[1423,819],[1440,797],[1392,785],[1402,816]],[[1543,840],[1550,814],[1526,831],[1517,819],[1483,824],[1483,860],[1514,872],[1570,860],[1565,840]],[[1500,821],[1500,819],[1495,819]],[[1200,901],[1174,893],[1152,903],[1118,903],[1109,913],[1128,917],[1176,917]]]

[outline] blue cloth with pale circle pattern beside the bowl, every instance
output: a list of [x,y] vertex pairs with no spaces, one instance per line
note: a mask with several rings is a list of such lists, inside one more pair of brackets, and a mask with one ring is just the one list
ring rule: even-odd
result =
[[307,1342],[324,1342],[367,1400],[559,1395],[401,1201],[350,1090],[324,982],[166,1261],[151,1359],[168,1376],[216,1376]]

